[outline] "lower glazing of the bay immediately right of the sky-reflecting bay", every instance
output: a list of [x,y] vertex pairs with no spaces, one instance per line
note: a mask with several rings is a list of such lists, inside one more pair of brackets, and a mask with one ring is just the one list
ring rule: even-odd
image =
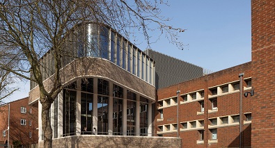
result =
[[123,135],[123,99],[113,99],[113,135]]

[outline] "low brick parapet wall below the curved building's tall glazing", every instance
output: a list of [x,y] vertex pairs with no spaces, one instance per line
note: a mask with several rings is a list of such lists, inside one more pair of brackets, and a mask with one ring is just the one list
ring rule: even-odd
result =
[[[180,138],[110,136],[110,135],[75,135],[67,138],[54,139],[53,148],[62,147],[181,147]],[[43,142],[39,143],[43,147]]]

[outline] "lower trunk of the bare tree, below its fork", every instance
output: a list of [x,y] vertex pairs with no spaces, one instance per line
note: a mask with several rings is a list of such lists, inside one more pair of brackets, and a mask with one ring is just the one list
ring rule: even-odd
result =
[[49,118],[49,112],[51,108],[51,103],[49,101],[45,101],[42,104],[42,129],[44,131],[44,147],[52,148],[52,126],[51,120]]

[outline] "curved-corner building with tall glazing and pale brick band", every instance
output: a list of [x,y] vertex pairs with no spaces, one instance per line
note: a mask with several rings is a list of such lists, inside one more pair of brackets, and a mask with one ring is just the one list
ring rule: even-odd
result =
[[[87,42],[79,37],[84,37]],[[144,147],[180,147],[180,138],[152,137],[156,102],[155,60],[103,24],[77,25],[65,40],[64,50],[70,57],[77,58],[62,59],[61,82],[65,88],[51,108],[54,147],[84,146],[77,142],[80,138],[81,143],[92,141],[91,145],[102,145],[107,138],[118,138],[108,140],[110,143],[106,145],[118,146],[116,142],[123,139],[120,147],[137,145],[136,142],[144,142]],[[51,59],[52,50],[40,59],[46,67],[43,69],[46,88],[51,87],[50,76],[54,74],[54,60]],[[32,82],[29,104],[38,106],[38,119],[41,119],[39,88]],[[166,142],[162,144],[158,140]],[[40,146],[42,142],[42,124],[39,122]]]

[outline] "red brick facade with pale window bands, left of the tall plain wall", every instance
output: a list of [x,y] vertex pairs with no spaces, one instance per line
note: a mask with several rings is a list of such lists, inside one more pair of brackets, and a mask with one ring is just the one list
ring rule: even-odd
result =
[[[182,147],[239,147],[239,123],[230,123],[230,120],[232,120],[235,115],[239,115],[240,90],[233,90],[233,87],[239,83],[240,73],[244,73],[244,79],[242,80],[244,91],[250,90],[251,87],[247,87],[246,81],[251,80],[251,63],[244,63],[236,67],[224,69],[220,72],[202,76],[198,79],[182,82],[178,85],[172,85],[168,88],[158,90],[157,97],[160,104],[157,106],[157,109],[163,110],[163,119],[160,120],[160,113],[156,115],[156,130],[159,131],[157,133],[163,136],[177,136],[177,131],[175,129],[173,130],[174,126],[172,126],[177,123],[177,106],[176,104],[173,105],[173,100],[176,98],[177,90],[180,90],[179,98],[181,104],[179,106],[179,125]],[[228,87],[228,92],[226,92],[226,87]],[[214,96],[210,91],[212,88],[218,89],[217,94]],[[224,88],[225,92],[222,92],[221,88]],[[204,97],[196,97],[196,99],[184,101],[183,97],[186,94],[193,95],[196,92],[204,92]],[[200,94],[196,93],[196,95]],[[217,99],[217,110],[212,110],[213,99]],[[172,101],[170,102],[171,105],[166,105],[167,100]],[[203,113],[200,113],[201,101],[204,101]],[[251,98],[243,98],[242,104],[242,121],[245,121],[246,116],[244,113],[251,113]],[[214,127],[209,126],[211,125],[210,120],[217,119],[217,122],[220,122],[223,118],[228,119],[227,124],[220,123]],[[203,120],[204,126],[198,127],[197,124],[195,128],[184,130],[184,122],[188,122],[187,124],[191,125],[191,123],[197,120]],[[251,122],[243,124],[242,127],[242,145],[245,147],[251,146],[250,123]],[[159,129],[159,126],[164,129]],[[217,140],[212,140],[211,131],[215,129],[217,129]],[[204,130],[204,140],[197,142],[197,140],[200,140],[200,132],[202,130]]]

